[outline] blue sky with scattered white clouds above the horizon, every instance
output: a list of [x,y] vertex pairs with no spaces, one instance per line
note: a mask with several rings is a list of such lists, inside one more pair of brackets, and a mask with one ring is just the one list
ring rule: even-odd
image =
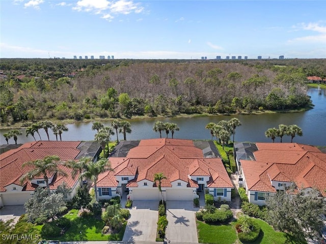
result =
[[326,1],[1,0],[1,57],[326,58]]

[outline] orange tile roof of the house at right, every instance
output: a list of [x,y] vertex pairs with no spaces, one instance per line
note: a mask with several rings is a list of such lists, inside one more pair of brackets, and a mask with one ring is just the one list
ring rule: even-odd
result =
[[294,182],[300,189],[317,188],[326,197],[326,154],[297,143],[256,143],[256,161],[241,160],[248,190],[276,192],[271,180]]

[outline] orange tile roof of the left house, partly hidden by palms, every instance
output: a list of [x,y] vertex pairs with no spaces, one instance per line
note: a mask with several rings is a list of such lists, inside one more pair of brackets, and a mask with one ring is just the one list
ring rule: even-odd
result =
[[[0,155],[0,192],[5,192],[5,187],[10,184],[24,186],[24,191],[35,190],[37,186],[32,185],[29,180],[25,180],[23,184],[20,184],[20,177],[32,169],[32,167],[22,168],[22,164],[25,162],[43,159],[52,155],[58,156],[62,161],[77,160],[84,155],[94,158],[96,151],[94,143],[80,141],[33,141],[6,151]],[[73,187],[76,182],[71,177],[71,169],[64,166],[60,166],[60,168],[67,173],[67,176],[55,175],[50,184],[50,189],[57,189],[63,181],[69,187]],[[49,177],[51,176],[49,175]]]

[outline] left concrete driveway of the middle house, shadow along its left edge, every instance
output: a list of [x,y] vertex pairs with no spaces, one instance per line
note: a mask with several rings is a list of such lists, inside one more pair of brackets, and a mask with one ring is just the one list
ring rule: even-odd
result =
[[133,201],[123,241],[155,241],[158,201]]

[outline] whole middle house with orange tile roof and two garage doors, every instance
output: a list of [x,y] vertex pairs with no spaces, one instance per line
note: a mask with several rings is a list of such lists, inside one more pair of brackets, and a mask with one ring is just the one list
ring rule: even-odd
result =
[[109,161],[113,171],[98,177],[99,199],[159,200],[154,174],[162,172],[167,177],[161,182],[164,200],[193,200],[205,189],[215,200],[231,200],[232,182],[211,141],[121,141]]

